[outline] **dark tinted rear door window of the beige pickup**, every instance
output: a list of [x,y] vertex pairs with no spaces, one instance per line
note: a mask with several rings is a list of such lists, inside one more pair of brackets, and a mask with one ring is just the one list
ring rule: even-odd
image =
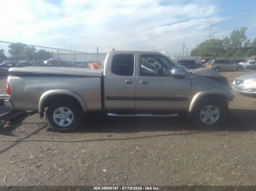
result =
[[133,76],[134,58],[133,54],[116,54],[112,60],[111,72],[120,76]]

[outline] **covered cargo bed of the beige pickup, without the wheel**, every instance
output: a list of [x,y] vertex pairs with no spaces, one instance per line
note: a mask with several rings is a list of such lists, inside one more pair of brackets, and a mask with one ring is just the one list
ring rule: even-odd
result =
[[[45,92],[78,94],[87,111],[101,110],[102,70],[65,67],[10,68],[8,77],[14,109],[38,110]],[[57,94],[57,93],[56,93]],[[56,100],[59,96],[56,97]]]

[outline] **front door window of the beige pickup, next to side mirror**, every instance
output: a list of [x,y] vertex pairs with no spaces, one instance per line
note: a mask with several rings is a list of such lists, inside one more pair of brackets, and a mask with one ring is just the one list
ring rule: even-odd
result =
[[[148,60],[154,60],[150,63]],[[148,64],[145,64],[148,63]],[[171,76],[171,71],[177,66],[169,59],[161,55],[143,54],[140,57],[140,75],[141,76]]]

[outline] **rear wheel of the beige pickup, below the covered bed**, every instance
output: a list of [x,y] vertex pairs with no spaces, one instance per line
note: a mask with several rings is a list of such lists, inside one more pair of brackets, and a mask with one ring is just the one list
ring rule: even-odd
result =
[[49,126],[58,132],[72,132],[81,122],[81,111],[76,104],[61,100],[53,102],[46,111]]

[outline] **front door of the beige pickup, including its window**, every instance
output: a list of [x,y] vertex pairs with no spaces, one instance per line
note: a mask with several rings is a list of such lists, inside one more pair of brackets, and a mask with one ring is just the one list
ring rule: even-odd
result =
[[[160,65],[156,71],[141,61],[156,60]],[[177,67],[161,54],[137,55],[136,110],[187,110],[192,86],[188,75],[182,78],[171,76]]]

